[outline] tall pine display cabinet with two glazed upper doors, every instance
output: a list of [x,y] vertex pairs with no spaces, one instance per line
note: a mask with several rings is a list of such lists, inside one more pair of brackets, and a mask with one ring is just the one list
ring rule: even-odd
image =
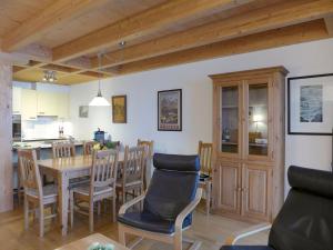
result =
[[213,80],[213,211],[272,221],[284,200],[284,84],[274,67]]

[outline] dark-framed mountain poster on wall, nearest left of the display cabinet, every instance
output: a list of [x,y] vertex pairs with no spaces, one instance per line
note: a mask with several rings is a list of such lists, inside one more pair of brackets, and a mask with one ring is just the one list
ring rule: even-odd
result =
[[158,92],[158,130],[182,131],[182,90]]

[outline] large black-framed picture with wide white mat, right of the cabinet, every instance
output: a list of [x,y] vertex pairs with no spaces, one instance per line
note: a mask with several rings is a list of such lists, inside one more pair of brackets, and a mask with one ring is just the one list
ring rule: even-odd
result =
[[332,136],[333,73],[287,79],[287,133]]

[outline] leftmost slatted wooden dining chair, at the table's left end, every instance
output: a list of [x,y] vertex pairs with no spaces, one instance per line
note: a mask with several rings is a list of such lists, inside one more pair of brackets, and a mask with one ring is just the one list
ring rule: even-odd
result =
[[[18,150],[21,168],[21,178],[24,187],[24,228],[29,228],[29,212],[34,212],[39,208],[39,236],[44,234],[44,220],[57,214],[44,216],[44,208],[56,203],[58,199],[57,186],[42,187],[41,176],[37,163],[36,150]],[[30,204],[33,209],[30,210]]]

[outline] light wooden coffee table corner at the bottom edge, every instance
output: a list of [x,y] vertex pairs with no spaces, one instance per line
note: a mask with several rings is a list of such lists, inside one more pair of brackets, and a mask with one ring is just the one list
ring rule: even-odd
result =
[[101,233],[94,233],[89,237],[82,238],[80,240],[73,241],[69,244],[65,244],[61,248],[57,248],[54,250],[87,250],[89,246],[93,242],[99,243],[111,243],[114,244],[114,250],[129,250],[127,247],[115,242],[114,240],[111,240],[108,237],[104,237]]

